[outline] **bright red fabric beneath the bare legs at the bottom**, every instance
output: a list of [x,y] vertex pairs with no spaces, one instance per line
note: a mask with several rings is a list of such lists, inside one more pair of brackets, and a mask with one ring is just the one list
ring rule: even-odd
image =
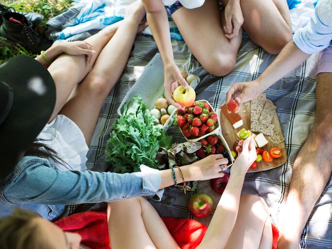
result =
[[[202,241],[207,227],[193,219],[161,218],[181,249],[194,249]],[[91,249],[110,249],[107,213],[72,214],[54,222],[63,231],[77,232],[82,244]],[[272,224],[273,249],[277,249],[279,230]]]

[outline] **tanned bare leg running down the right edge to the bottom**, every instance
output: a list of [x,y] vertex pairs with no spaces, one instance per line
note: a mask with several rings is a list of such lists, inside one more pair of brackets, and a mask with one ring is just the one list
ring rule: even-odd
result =
[[[316,117],[294,162],[280,249],[298,249],[300,234],[332,171],[332,73],[317,75]],[[313,181],[312,177],[315,176]]]

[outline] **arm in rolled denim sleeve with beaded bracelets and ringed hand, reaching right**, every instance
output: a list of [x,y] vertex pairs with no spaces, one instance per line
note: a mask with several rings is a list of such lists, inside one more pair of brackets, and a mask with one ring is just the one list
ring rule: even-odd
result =
[[[221,164],[228,160],[211,155],[190,165],[182,166],[186,181],[219,177]],[[158,171],[141,166],[141,172],[116,174],[94,171],[58,171],[45,159],[34,158],[15,175],[3,192],[7,201],[48,205],[111,202],[136,196],[161,198],[158,190],[174,185],[172,170]],[[177,182],[182,182],[176,169]]]

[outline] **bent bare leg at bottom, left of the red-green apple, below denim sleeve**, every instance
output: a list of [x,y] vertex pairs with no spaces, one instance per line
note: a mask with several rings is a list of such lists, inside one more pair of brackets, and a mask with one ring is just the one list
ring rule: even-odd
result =
[[179,249],[157,211],[144,198],[108,203],[112,249]]

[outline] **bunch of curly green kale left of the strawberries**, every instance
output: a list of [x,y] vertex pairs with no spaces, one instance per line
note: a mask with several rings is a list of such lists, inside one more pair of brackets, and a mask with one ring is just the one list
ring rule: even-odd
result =
[[140,171],[140,164],[157,169],[155,157],[159,147],[169,148],[171,144],[172,136],[155,124],[142,98],[136,95],[128,105],[123,105],[122,115],[110,133],[106,161],[113,164],[116,173]]

